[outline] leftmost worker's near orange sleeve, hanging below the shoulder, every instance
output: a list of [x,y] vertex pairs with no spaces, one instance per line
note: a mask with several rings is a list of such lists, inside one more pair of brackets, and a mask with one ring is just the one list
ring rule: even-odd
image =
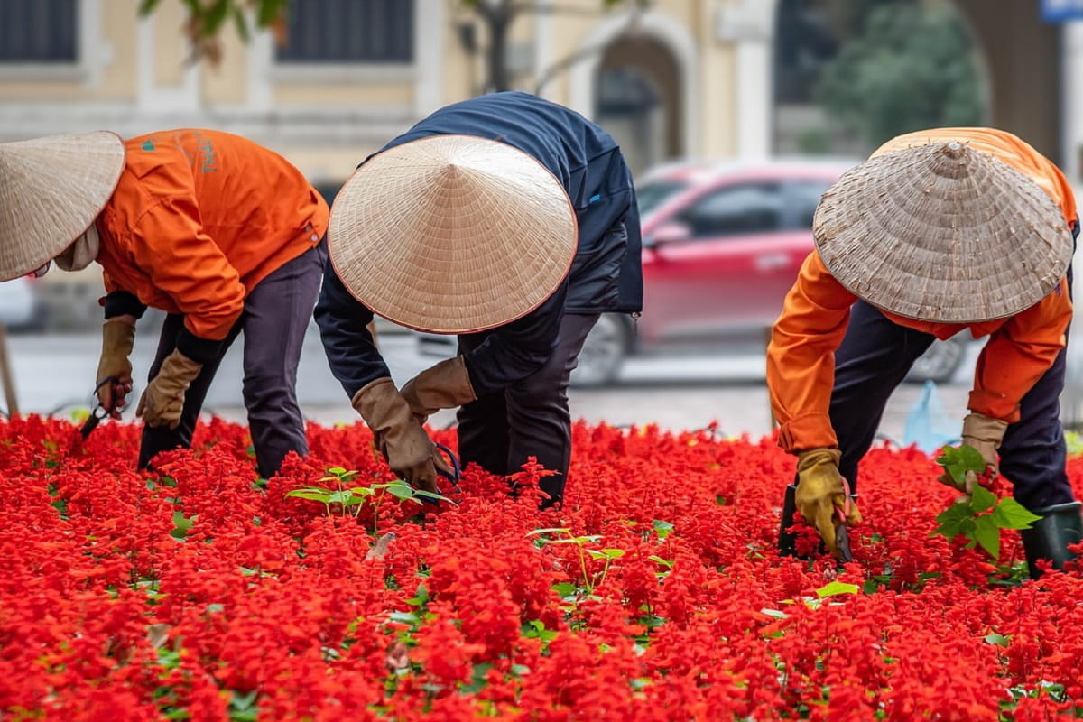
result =
[[240,316],[245,287],[204,231],[194,198],[162,198],[132,231],[135,263],[168,294],[195,337],[221,341]]

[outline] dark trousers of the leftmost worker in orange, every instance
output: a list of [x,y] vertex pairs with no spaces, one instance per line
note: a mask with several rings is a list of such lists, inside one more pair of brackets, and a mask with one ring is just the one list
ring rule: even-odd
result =
[[[297,365],[326,259],[327,245],[322,242],[256,285],[245,299],[245,310],[225,337],[218,356],[204,364],[185,393],[177,429],[143,426],[140,469],[146,469],[161,451],[192,445],[192,433],[207,390],[225,352],[242,331],[245,334],[242,393],[260,475],[265,478],[274,475],[289,451],[301,456],[309,452],[304,418],[297,404]],[[148,379],[158,375],[166,356],[173,352],[183,325],[183,314],[166,317]]]

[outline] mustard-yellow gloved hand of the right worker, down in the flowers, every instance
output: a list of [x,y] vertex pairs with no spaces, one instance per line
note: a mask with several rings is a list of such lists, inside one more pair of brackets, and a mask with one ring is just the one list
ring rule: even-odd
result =
[[[846,509],[846,487],[838,473],[838,460],[841,458],[838,449],[814,448],[800,451],[797,455],[797,491],[794,501],[797,511],[812,524],[824,546],[835,556],[839,555],[835,547],[835,529],[843,524],[835,508]],[[846,518],[847,526],[861,522],[858,504],[850,502],[850,514]]]

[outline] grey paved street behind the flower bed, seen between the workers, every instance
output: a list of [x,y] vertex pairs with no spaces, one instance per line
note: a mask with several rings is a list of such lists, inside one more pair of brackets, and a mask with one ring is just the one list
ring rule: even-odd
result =
[[[9,342],[24,413],[68,412],[89,406],[101,343],[97,333],[11,336]],[[132,358],[136,380],[145,378],[156,342],[156,333],[143,333],[136,339]],[[415,338],[409,334],[383,334],[381,344],[400,384],[435,360],[419,355]],[[973,347],[971,356],[977,349]],[[965,413],[973,367],[971,358],[954,383],[939,390],[945,411],[954,419]],[[207,411],[244,421],[240,369],[238,342],[211,386]],[[899,389],[885,415],[883,434],[902,441],[906,413],[921,391],[917,384]],[[357,418],[327,368],[315,327],[305,340],[298,393],[305,415],[313,421],[330,424]],[[758,437],[770,432],[764,359],[757,355],[634,359],[627,363],[621,384],[601,390],[573,389],[571,402],[573,416],[591,422],[657,423],[664,429],[684,430],[717,420],[729,435]],[[453,421],[452,411],[441,411],[432,419],[440,426]]]

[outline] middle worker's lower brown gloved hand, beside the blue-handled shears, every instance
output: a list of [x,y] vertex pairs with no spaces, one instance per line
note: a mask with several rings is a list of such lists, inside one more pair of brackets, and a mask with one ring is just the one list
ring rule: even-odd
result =
[[376,448],[407,484],[439,494],[436,469],[452,473],[390,377],[370,381],[353,395],[353,408],[373,430]]

